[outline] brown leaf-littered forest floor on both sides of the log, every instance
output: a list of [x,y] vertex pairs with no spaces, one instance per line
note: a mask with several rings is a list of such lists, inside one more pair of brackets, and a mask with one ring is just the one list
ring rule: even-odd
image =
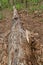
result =
[[[12,12],[9,10],[2,11],[5,18],[0,20],[0,65],[7,65],[8,63],[8,51],[6,52],[5,49],[8,49],[8,36],[5,37],[6,32],[9,33],[9,30],[12,27]],[[19,11],[19,17],[21,19],[21,24],[23,29],[28,29],[30,31],[39,33],[39,40],[41,44],[43,44],[43,12],[32,14],[28,13],[27,11]],[[3,34],[4,33],[4,34]],[[1,36],[2,35],[2,36]],[[5,41],[2,42],[3,36]],[[3,43],[3,44],[2,44]],[[4,50],[4,51],[3,51]],[[3,57],[3,55],[5,55]],[[3,60],[3,61],[2,61]],[[6,62],[5,62],[6,61]]]

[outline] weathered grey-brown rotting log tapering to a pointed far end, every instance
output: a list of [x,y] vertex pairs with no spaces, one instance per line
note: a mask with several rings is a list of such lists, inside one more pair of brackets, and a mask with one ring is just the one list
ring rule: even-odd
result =
[[42,65],[40,62],[40,43],[35,38],[37,35],[38,33],[23,30],[14,6],[13,25],[8,38],[8,65]]

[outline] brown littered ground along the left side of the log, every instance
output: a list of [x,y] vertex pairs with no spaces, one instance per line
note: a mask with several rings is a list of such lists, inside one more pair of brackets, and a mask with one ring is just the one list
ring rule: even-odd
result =
[[4,18],[0,20],[0,65],[8,64],[8,33],[11,29],[12,13],[6,9],[1,11]]

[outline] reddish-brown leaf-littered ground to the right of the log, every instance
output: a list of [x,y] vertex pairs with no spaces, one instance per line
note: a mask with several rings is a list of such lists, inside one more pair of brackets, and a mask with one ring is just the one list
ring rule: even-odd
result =
[[43,43],[43,12],[28,14],[26,11],[20,11],[19,15],[23,28],[38,33],[40,42]]

